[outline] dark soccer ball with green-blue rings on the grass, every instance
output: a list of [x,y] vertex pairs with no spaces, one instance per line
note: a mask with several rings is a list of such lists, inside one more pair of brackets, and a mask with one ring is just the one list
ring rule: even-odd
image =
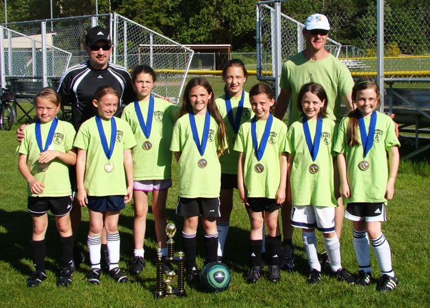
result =
[[231,282],[230,270],[220,262],[206,264],[200,273],[200,281],[208,292],[222,292],[229,288]]

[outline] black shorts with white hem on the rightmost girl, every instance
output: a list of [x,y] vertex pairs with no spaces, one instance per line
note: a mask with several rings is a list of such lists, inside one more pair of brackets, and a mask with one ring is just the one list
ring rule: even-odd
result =
[[353,221],[366,220],[366,222],[385,221],[385,204],[357,202],[346,205],[345,218]]

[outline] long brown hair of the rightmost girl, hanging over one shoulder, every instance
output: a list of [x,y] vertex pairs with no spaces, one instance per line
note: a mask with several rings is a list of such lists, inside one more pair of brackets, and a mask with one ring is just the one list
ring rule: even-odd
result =
[[[377,101],[379,102],[379,99],[381,99],[381,96],[379,94],[379,86],[375,82],[375,79],[366,77],[357,80],[353,87],[352,99],[354,104],[355,101],[357,101],[357,92],[366,89],[373,89],[377,94]],[[359,146],[361,144],[357,138],[359,116],[360,112],[357,108],[355,108],[355,110],[352,110],[348,114],[349,123],[348,128],[346,129],[346,144],[348,144],[349,146]]]

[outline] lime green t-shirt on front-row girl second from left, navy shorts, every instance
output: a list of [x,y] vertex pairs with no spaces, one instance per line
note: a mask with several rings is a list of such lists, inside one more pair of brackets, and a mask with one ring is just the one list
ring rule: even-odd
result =
[[[136,146],[133,132],[125,120],[116,118],[116,139],[110,162],[114,165],[112,172],[105,171],[108,158],[103,151],[95,116],[82,123],[75,138],[75,147],[85,150],[86,166],[84,188],[88,196],[125,195],[127,185],[124,170],[124,150]],[[108,146],[110,146],[111,121],[101,120]]]

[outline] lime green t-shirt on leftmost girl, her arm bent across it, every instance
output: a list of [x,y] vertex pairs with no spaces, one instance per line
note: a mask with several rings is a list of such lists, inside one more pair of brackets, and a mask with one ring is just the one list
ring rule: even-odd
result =
[[[51,122],[40,123],[40,132],[42,135],[42,146],[45,148],[45,142],[49,129],[51,128]],[[42,194],[32,194],[27,188],[28,196],[70,196],[72,194],[71,183],[68,177],[68,164],[62,162],[60,159],[55,158],[49,162],[49,167],[45,172],[42,172],[39,168],[39,155],[40,149],[36,141],[35,133],[36,123],[28,125],[24,129],[24,139],[19,145],[19,153],[27,155],[27,167],[29,168],[31,175],[35,179],[43,183],[45,188]],[[67,153],[73,149],[73,140],[75,139],[75,129],[70,123],[59,120],[58,125],[55,128],[55,133],[49,150],[57,150],[60,152]]]

